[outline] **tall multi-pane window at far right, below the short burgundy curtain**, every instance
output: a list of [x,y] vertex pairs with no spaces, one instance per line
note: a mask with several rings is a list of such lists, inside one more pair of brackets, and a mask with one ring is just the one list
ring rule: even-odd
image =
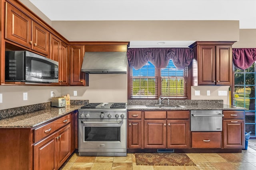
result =
[[234,105],[246,107],[245,111],[245,131],[252,132],[250,138],[256,138],[255,135],[255,86],[256,86],[256,68],[255,63],[246,70],[235,68],[235,89]]

